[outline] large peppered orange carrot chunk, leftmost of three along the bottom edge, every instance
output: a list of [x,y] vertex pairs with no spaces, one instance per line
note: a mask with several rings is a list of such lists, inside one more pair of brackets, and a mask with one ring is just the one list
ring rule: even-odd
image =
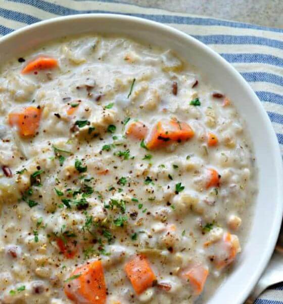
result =
[[107,290],[101,261],[77,267],[67,279],[64,291],[76,304],[105,304]]

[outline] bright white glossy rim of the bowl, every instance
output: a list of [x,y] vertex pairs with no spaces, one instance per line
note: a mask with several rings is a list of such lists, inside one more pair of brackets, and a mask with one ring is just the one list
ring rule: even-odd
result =
[[[124,14],[112,14],[112,13],[91,13],[91,14],[76,14],[76,15],[67,15],[67,16],[61,16],[61,17],[55,17],[47,20],[43,20],[40,22],[33,23],[31,25],[24,26],[22,28],[16,29],[15,31],[4,35],[0,37],[0,45],[4,42],[9,41],[10,39],[15,39],[17,36],[20,36],[21,34],[30,31],[35,28],[43,28],[45,26],[48,26],[50,24],[58,23],[64,23],[69,22],[72,20],[78,20],[78,19],[93,19],[93,18],[101,18],[101,19],[112,19],[112,20],[121,20],[121,21],[130,21],[134,23],[138,23],[141,25],[147,25],[153,27],[153,29],[159,29],[162,31],[170,32],[172,35],[176,37],[180,37],[182,40],[187,40],[189,43],[196,45],[197,47],[203,49],[210,57],[212,57],[214,60],[217,61],[217,64],[224,65],[226,69],[228,69],[232,76],[237,79],[241,83],[241,86],[243,86],[249,93],[249,97],[253,99],[253,102],[257,109],[259,110],[260,116],[264,122],[264,128],[270,135],[270,140],[272,143],[272,146],[270,146],[270,149],[273,152],[273,156],[275,156],[274,162],[276,163],[277,171],[274,172],[274,178],[277,181],[277,184],[283,185],[283,164],[282,164],[282,157],[280,153],[279,143],[275,134],[275,131],[272,127],[272,123],[269,120],[269,117],[267,115],[267,112],[265,111],[262,103],[260,102],[259,98],[253,91],[253,89],[250,87],[250,85],[246,82],[246,80],[242,77],[242,75],[230,64],[228,63],[223,57],[221,57],[218,53],[216,53],[213,49],[205,45],[204,43],[200,42],[199,40],[195,39],[189,34],[186,34],[185,32],[182,32],[181,30],[175,29],[169,25],[162,24],[156,21],[148,20],[145,18],[140,17],[134,17],[134,16],[128,16]],[[47,42],[48,40],[46,40]],[[270,239],[269,240],[269,246],[266,247],[265,251],[262,253],[261,263],[258,264],[258,267],[256,269],[256,272],[253,274],[252,279],[250,279],[250,283],[247,284],[246,289],[239,294],[239,304],[243,303],[251,291],[253,290],[254,286],[256,285],[257,281],[259,280],[260,276],[262,275],[264,269],[266,268],[271,255],[273,253],[279,232],[280,232],[280,226],[282,222],[282,215],[283,215],[283,204],[280,203],[283,198],[283,187],[277,188],[277,194],[278,198],[276,201],[276,217],[273,219],[273,226],[270,230]],[[274,207],[275,208],[275,207]]]

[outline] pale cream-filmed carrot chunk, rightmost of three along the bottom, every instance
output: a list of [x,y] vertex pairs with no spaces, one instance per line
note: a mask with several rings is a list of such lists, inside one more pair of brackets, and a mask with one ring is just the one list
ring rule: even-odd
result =
[[199,295],[203,291],[208,276],[208,269],[207,267],[198,264],[188,270],[183,271],[181,276],[191,284],[194,294]]

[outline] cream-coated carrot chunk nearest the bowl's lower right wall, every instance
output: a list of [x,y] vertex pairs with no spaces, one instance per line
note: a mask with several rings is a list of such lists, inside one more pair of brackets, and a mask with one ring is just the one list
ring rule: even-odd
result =
[[225,266],[232,263],[237,253],[241,251],[237,236],[231,235],[229,232],[224,233],[222,240],[218,242],[217,245],[221,246],[220,248],[225,253],[221,256],[214,256],[213,262],[215,264],[215,267],[218,269],[224,268]]

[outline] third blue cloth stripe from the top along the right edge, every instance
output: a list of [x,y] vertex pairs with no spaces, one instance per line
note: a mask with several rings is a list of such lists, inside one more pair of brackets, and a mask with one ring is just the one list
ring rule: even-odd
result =
[[265,63],[283,67],[283,58],[267,54],[220,54],[230,63]]

